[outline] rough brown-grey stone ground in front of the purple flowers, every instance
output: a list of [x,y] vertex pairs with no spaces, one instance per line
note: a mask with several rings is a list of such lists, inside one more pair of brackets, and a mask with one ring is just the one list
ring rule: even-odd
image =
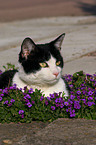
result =
[[96,145],[96,120],[0,124],[0,145]]

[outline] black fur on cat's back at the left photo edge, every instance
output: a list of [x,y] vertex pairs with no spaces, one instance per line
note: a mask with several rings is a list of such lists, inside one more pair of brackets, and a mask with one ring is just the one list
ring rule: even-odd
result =
[[4,89],[6,87],[11,86],[12,79],[15,75],[15,73],[18,72],[17,70],[9,70],[5,71],[0,75],[0,89]]

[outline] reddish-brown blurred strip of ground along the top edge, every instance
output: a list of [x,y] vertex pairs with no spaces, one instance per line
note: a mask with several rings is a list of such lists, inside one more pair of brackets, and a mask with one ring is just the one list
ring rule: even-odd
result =
[[96,0],[0,0],[0,22],[96,15]]

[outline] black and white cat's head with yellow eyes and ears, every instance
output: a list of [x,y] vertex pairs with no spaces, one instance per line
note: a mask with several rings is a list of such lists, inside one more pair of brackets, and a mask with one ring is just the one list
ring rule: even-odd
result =
[[31,83],[57,82],[62,73],[63,58],[61,44],[65,33],[46,44],[35,44],[31,38],[25,38],[19,54],[20,77]]

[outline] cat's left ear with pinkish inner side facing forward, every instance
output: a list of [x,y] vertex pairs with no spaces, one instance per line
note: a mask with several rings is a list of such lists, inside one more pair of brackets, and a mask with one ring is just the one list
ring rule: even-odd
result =
[[30,52],[35,50],[35,47],[36,47],[36,45],[32,41],[31,38],[29,38],[29,37],[25,38],[22,42],[22,45],[21,45],[21,55],[22,55],[22,57],[27,59]]

